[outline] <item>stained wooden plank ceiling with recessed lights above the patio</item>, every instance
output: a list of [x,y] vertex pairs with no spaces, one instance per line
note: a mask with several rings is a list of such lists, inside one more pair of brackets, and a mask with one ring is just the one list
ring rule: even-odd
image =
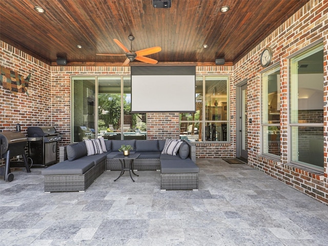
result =
[[[224,57],[232,65],[307,2],[172,0],[162,9],[152,0],[1,0],[0,39],[52,65],[57,57],[68,65],[121,65],[126,56],[96,53],[124,54],[113,38],[130,50],[130,34],[134,51],[161,47],[147,55],[158,64],[214,65]],[[221,13],[222,6],[230,10]]]

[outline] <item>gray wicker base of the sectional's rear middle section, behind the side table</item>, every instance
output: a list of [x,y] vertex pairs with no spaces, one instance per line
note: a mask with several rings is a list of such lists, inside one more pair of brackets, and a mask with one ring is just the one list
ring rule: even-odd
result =
[[[135,159],[134,160],[134,170],[160,170],[159,159],[149,158],[149,159]],[[106,160],[106,170],[109,171],[120,171],[121,163],[118,159],[107,159]]]

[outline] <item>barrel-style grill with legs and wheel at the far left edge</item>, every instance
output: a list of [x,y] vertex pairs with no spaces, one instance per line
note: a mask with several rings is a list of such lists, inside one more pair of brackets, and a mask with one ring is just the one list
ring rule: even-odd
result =
[[1,132],[0,133],[0,157],[6,159],[4,180],[11,182],[14,175],[10,173],[10,158],[22,155],[26,171],[30,173],[29,163],[25,154],[27,137],[21,132]]

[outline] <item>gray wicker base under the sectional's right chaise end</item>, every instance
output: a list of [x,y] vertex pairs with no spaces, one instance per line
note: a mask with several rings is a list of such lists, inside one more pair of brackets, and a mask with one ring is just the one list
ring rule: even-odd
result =
[[198,190],[198,173],[161,173],[161,190]]

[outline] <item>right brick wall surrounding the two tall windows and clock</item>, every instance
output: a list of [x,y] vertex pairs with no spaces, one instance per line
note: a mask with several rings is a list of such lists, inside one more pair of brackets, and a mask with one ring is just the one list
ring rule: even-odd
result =
[[[287,185],[328,204],[327,183],[327,103],[324,104],[324,173],[290,165],[288,156],[288,74],[289,58],[300,49],[322,40],[324,44],[324,100],[327,102],[327,50],[328,50],[328,3],[311,0],[289,20],[272,32],[251,52],[234,65],[234,84],[247,79],[249,165],[286,183]],[[273,62],[280,66],[280,160],[261,156],[260,150],[260,66],[259,57],[265,47],[273,50]],[[322,114],[321,114],[322,117]]]

